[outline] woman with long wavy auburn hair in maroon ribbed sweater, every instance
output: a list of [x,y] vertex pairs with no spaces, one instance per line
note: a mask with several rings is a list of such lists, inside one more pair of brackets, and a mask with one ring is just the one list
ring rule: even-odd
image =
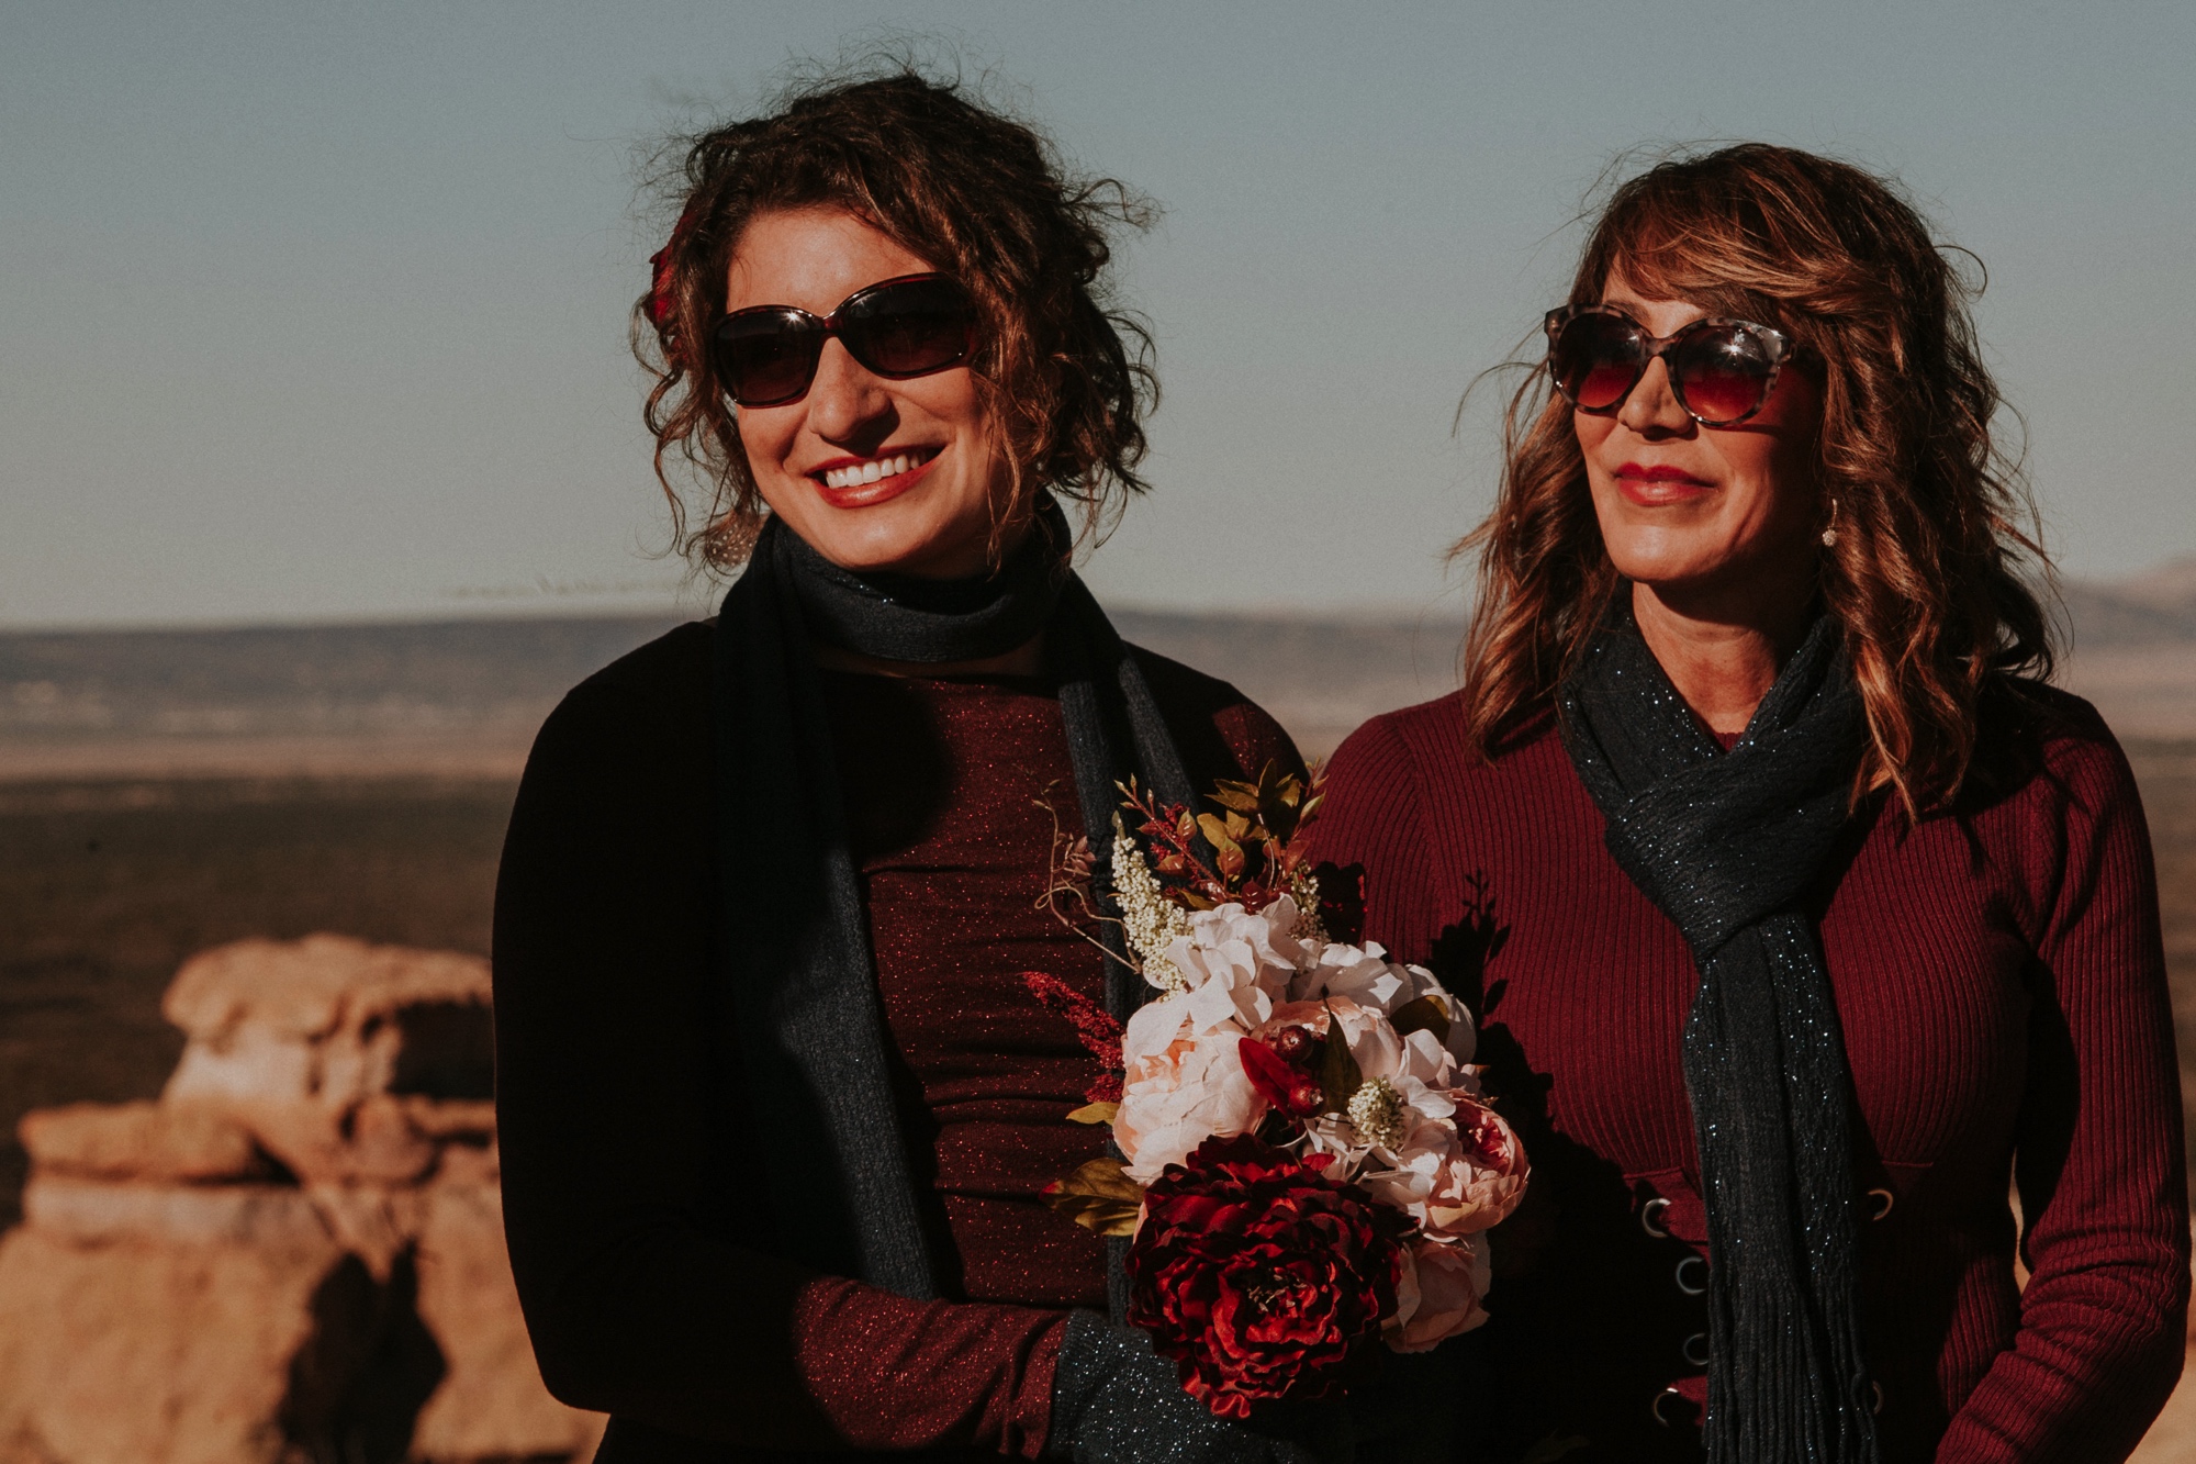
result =
[[2189,1286],[2156,884],[1959,275],[1739,145],[1618,187],[1546,332],[1465,688],[1315,833],[1535,1161],[1487,1457],[2126,1457]]

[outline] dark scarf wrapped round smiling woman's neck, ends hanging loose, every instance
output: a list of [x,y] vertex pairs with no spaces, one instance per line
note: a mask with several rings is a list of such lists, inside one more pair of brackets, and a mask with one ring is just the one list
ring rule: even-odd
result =
[[[1142,668],[1069,567],[1069,543],[1045,499],[995,576],[935,583],[850,574],[773,519],[718,618],[720,963],[751,1106],[738,1121],[769,1154],[780,1255],[905,1297],[935,1297],[938,1271],[894,1110],[810,644],[944,664],[1043,631],[1102,892],[1116,780],[1135,776],[1166,802],[1190,802],[1190,785]],[[1039,879],[1032,870],[1032,892]],[[1142,983],[1107,967],[1109,1007],[1124,1018]]]

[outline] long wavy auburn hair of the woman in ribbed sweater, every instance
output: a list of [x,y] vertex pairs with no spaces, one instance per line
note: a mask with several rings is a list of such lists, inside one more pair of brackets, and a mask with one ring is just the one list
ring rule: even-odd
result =
[[[1970,319],[1979,286],[1886,180],[1766,143],[1623,182],[1570,303],[1599,301],[1618,275],[1649,297],[1779,325],[1818,369],[1818,473],[1836,514],[1820,596],[1845,626],[1869,721],[1856,796],[1893,787],[1908,813],[1941,807],[1974,761],[1985,686],[2047,677],[2053,655],[2036,506],[1992,437],[2001,398]],[[1548,706],[1623,585],[1546,369],[1509,402],[1495,508],[1452,554],[1471,550],[1465,708],[1493,756]]]

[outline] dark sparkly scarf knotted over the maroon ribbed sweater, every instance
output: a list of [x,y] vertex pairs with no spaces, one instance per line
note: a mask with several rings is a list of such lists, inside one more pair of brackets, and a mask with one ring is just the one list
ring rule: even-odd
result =
[[1713,1464],[1873,1464],[1851,1071],[1801,895],[1847,820],[1860,692],[1814,624],[1726,754],[1618,611],[1559,695],[1610,853],[1693,947],[1684,1029],[1708,1209]]

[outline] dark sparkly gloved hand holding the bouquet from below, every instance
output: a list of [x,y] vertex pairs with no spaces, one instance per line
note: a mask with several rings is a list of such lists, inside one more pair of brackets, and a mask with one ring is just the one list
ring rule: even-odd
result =
[[1214,1418],[1133,1328],[1069,1312],[1052,1374],[1047,1460],[1074,1464],[1355,1464],[1348,1416],[1309,1405],[1278,1431]]

